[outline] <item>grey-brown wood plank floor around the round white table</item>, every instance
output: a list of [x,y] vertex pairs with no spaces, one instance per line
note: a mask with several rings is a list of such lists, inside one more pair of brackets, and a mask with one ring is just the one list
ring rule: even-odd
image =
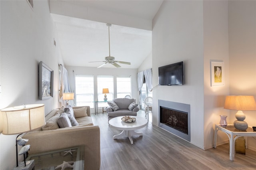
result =
[[[138,116],[144,117],[139,111]],[[100,127],[100,170],[255,170],[256,152],[236,154],[229,160],[228,144],[202,150],[152,123],[136,130],[143,136],[113,139],[120,130],[108,125],[106,113],[92,114],[94,125]]]

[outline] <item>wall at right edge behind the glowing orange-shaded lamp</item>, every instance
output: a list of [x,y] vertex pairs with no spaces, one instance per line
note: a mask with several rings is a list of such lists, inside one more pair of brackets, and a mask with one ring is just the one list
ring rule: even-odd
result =
[[[256,1],[228,1],[230,95],[253,95],[256,99]],[[233,123],[236,111],[230,111]],[[244,111],[249,126],[256,126],[256,111]],[[256,140],[247,137],[248,148]]]

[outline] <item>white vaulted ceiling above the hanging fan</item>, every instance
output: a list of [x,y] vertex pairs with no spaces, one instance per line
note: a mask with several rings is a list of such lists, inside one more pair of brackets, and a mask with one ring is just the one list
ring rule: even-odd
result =
[[[110,55],[138,68],[152,55],[152,19],[162,0],[50,0],[65,65],[98,67]],[[111,64],[103,67],[115,68]]]

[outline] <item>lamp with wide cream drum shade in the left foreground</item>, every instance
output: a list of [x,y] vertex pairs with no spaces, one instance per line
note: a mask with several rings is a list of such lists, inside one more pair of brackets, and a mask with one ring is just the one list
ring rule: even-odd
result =
[[[1,110],[3,134],[19,134],[16,138],[16,166],[18,167],[19,136],[45,125],[44,104],[22,105]],[[19,137],[19,138],[18,138]],[[29,163],[28,163],[29,164]],[[25,155],[24,165],[26,166]]]

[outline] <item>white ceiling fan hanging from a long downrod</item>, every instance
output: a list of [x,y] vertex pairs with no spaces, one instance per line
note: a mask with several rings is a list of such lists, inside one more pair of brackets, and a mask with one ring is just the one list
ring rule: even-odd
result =
[[117,68],[121,67],[118,63],[131,65],[130,62],[116,61],[116,60],[115,60],[115,57],[111,57],[111,56],[110,56],[110,34],[109,34],[109,28],[111,27],[111,24],[106,24],[106,26],[108,27],[108,48],[109,48],[109,56],[108,56],[108,57],[105,57],[105,60],[106,60],[106,61],[90,61],[89,63],[104,62],[102,65],[98,66],[97,68],[100,68],[100,67],[102,67],[103,65],[105,65],[105,64],[107,64],[107,63],[112,64],[112,65],[114,65],[114,66],[117,67]]

